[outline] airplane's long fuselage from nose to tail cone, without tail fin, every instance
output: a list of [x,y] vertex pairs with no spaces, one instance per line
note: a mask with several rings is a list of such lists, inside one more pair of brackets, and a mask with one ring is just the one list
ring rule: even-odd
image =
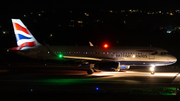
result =
[[164,66],[170,65],[177,59],[168,51],[154,47],[91,47],[91,46],[38,46],[29,52],[20,52],[22,55],[38,58],[59,60],[59,54],[63,59],[120,62],[121,65],[134,66]]

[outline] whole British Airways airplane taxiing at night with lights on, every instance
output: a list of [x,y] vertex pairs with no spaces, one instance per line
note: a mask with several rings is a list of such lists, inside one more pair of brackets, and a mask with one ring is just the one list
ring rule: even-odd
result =
[[[40,44],[20,19],[12,19],[17,47],[10,48],[19,55],[34,59],[72,60],[89,64],[88,74],[96,72],[96,65],[101,62],[117,63],[114,71],[129,69],[130,66],[149,66],[151,74],[156,66],[174,64],[177,58],[165,49],[156,47],[119,47],[94,46],[49,46]],[[98,66],[97,66],[98,67]]]

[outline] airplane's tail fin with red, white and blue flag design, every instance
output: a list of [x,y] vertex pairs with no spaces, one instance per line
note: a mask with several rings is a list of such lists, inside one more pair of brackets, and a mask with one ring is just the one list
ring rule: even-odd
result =
[[12,19],[12,24],[18,45],[12,49],[24,50],[40,45],[20,19]]

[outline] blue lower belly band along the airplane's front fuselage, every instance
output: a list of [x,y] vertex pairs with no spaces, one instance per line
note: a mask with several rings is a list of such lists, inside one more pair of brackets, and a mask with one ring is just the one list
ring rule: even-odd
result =
[[123,65],[142,65],[142,66],[147,66],[152,64],[170,65],[175,63],[175,61],[116,61],[116,62],[120,62],[120,64]]

